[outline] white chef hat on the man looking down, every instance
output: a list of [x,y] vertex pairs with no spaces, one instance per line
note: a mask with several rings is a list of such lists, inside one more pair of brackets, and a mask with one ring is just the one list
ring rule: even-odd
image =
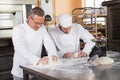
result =
[[62,14],[58,17],[58,23],[62,27],[67,28],[72,25],[72,17],[67,14]]

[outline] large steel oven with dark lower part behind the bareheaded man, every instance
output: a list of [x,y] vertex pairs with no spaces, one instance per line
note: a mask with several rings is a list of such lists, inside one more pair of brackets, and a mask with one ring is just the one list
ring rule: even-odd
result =
[[0,80],[12,80],[13,63],[12,29],[26,22],[27,12],[34,7],[34,0],[0,1]]

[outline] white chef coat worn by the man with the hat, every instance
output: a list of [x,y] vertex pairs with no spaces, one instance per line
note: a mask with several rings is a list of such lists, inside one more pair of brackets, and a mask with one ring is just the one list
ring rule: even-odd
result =
[[86,52],[88,55],[95,45],[95,43],[92,42],[92,39],[94,39],[93,35],[77,23],[72,24],[71,31],[68,34],[62,32],[59,26],[51,29],[49,33],[54,40],[57,49],[59,50],[58,55],[60,57],[63,57],[66,52],[77,53],[81,51],[80,39],[86,43],[82,51]]

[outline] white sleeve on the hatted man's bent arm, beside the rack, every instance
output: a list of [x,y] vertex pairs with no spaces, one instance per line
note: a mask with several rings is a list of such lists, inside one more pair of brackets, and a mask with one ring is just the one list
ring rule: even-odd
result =
[[84,29],[81,25],[79,26],[80,38],[86,43],[83,48],[83,52],[86,52],[88,55],[92,51],[92,48],[95,46],[95,42],[92,41],[94,39],[93,35],[86,29]]

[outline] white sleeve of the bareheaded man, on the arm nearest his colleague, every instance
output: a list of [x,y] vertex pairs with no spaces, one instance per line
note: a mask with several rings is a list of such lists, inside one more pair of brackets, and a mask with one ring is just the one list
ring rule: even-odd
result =
[[43,41],[44,41],[44,46],[48,56],[52,56],[52,55],[58,56],[55,44],[46,30],[45,30]]

